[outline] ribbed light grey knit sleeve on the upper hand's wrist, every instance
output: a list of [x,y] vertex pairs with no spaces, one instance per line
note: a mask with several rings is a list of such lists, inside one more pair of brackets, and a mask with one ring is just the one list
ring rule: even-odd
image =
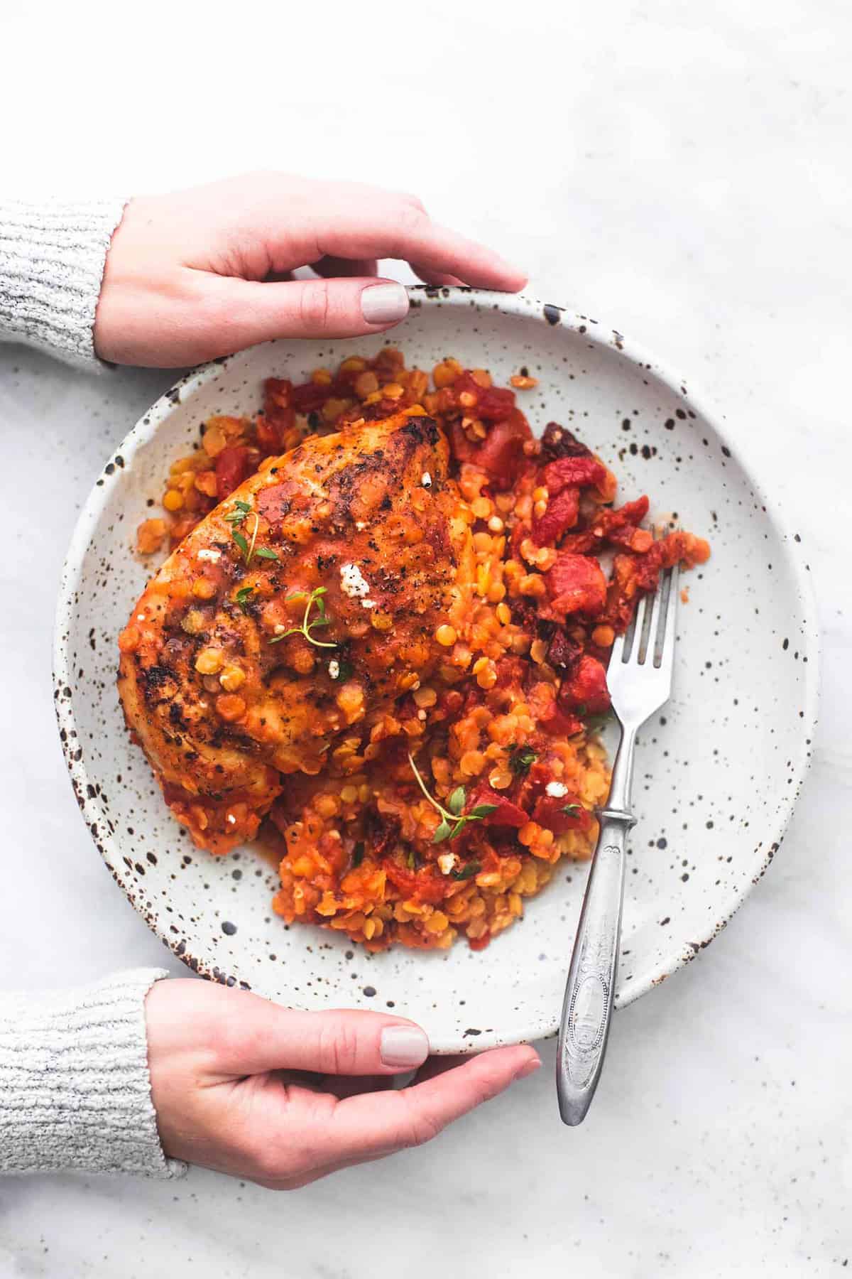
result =
[[78,367],[105,367],[95,354],[95,308],[125,203],[0,196],[0,341],[26,341]]

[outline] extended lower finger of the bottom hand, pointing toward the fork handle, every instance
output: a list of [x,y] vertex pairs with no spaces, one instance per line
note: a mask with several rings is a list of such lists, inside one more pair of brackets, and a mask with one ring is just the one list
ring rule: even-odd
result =
[[346,1097],[331,1111],[328,1143],[341,1160],[420,1146],[540,1064],[533,1048],[498,1048],[410,1088]]

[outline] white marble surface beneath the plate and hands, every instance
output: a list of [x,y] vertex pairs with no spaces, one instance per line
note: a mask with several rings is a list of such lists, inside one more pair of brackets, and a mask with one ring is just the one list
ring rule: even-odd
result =
[[[5,1179],[0,1276],[842,1273],[848,6],[427,3],[410,24],[386,3],[327,4],[322,23],[316,6],[208,4],[198,23],[189,8],[63,6],[46,23],[5,6],[4,184],[153,189],[276,165],[416,189],[528,263],[536,292],[680,366],[750,437],[811,551],[823,721],[782,853],[713,946],[618,1014],[582,1128],[558,1123],[545,1045],[536,1078],[432,1146],[298,1197],[202,1172]],[[18,986],[166,961],[79,821],[49,665],[75,512],[169,380],[0,347],[0,971]]]

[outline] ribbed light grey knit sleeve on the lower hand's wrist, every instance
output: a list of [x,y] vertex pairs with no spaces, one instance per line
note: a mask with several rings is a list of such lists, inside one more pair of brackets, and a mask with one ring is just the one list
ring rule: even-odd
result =
[[144,998],[162,968],[0,994],[0,1173],[180,1177],[151,1101]]

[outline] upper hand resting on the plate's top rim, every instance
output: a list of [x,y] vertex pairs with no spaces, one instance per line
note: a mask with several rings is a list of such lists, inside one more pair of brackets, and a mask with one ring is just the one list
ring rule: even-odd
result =
[[[522,271],[433,223],[415,196],[280,173],[132,200],[112,237],[95,349],[119,365],[172,367],[267,338],[349,338],[404,320],[401,284],[376,258],[405,258],[428,284],[517,292]],[[291,280],[313,266],[323,276]]]

